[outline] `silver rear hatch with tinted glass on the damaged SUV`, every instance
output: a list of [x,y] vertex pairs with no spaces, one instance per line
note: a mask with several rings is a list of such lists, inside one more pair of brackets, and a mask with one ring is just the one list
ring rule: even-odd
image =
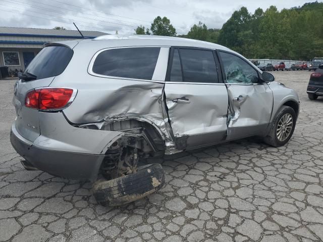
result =
[[33,142],[40,135],[38,110],[25,106],[26,94],[33,89],[49,86],[56,76],[64,72],[72,56],[70,46],[47,44],[24,71],[24,79],[16,82],[13,98],[17,113],[16,129],[25,139]]

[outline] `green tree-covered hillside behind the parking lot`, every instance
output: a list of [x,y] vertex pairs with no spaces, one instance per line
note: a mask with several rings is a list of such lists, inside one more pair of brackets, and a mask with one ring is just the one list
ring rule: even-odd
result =
[[[151,24],[151,32],[143,26],[137,34],[175,36],[176,29],[166,17],[159,16]],[[242,7],[235,11],[222,29],[209,29],[201,22],[186,35],[178,35],[225,45],[248,58],[309,60],[323,56],[323,3],[278,11],[275,6],[250,13]]]

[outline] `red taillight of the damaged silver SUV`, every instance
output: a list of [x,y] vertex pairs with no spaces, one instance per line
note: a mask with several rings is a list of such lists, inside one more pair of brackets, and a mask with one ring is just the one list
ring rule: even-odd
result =
[[58,110],[70,104],[76,90],[69,88],[41,88],[27,93],[25,106],[40,110]]

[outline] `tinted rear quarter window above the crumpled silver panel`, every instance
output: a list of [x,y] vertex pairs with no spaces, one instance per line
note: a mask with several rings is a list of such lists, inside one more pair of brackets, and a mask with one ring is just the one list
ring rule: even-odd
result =
[[104,50],[97,55],[92,71],[104,76],[151,80],[159,50],[159,47]]

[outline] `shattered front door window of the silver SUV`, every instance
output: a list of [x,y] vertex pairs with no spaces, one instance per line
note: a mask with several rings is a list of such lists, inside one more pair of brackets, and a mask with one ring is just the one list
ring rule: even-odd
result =
[[257,83],[258,73],[242,58],[220,51],[227,83]]

